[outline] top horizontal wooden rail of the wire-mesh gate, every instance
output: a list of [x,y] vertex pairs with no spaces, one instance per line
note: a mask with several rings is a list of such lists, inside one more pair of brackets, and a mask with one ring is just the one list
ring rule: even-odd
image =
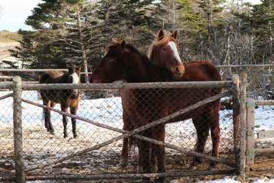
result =
[[151,83],[121,83],[114,82],[111,84],[27,84],[23,83],[23,90],[40,90],[40,89],[123,89],[123,88],[229,88],[232,82],[151,82]]

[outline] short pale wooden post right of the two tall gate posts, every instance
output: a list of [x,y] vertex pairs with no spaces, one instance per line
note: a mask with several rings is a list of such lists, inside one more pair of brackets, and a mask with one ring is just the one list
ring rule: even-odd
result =
[[254,163],[254,115],[255,99],[247,99],[247,151],[246,164]]

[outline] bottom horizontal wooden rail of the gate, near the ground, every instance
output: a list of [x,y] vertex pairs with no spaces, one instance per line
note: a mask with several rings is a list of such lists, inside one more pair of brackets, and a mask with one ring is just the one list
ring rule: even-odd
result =
[[[140,174],[96,174],[96,175],[48,175],[27,176],[27,180],[98,180],[98,179],[133,179],[133,178],[175,178],[197,175],[229,175],[234,174],[235,169],[215,171],[179,171],[166,173],[140,173]],[[14,176],[0,177],[0,180],[14,180]]]

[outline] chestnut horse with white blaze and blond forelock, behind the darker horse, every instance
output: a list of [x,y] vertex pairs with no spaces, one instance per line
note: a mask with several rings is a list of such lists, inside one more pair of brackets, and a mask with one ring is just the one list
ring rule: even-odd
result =
[[[221,81],[221,75],[216,67],[207,60],[193,60],[182,64],[179,58],[179,45],[177,43],[177,31],[170,34],[166,30],[161,29],[155,34],[155,40],[151,43],[147,56],[154,64],[164,66],[169,75],[172,77],[172,82],[195,82],[195,81]],[[182,89],[177,89],[182,90]],[[208,88],[208,93],[216,95],[221,93],[222,88]],[[184,100],[188,100],[187,98]],[[209,110],[204,111],[203,115],[208,119],[200,119],[197,114],[191,116],[192,121],[197,131],[197,143],[195,151],[204,153],[206,140],[208,138],[209,130],[212,136],[212,156],[219,157],[219,109],[220,100],[214,101]],[[185,120],[185,117],[179,121]],[[175,122],[175,121],[174,121]],[[124,123],[124,130],[132,130],[130,125]],[[128,164],[128,138],[124,138],[122,147],[121,167]],[[153,156],[153,155],[152,155]],[[151,158],[154,160],[155,158]],[[196,169],[197,165],[201,162],[200,158],[195,157],[190,165],[190,169]],[[151,162],[155,164],[154,162]],[[155,167],[155,165],[153,165]],[[216,164],[210,163],[209,169],[214,169]]]

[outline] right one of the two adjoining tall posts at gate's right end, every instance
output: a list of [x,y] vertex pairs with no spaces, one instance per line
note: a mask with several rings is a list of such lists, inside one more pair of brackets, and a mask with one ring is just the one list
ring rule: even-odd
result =
[[239,160],[236,167],[236,174],[240,182],[245,182],[245,152],[247,136],[247,74],[240,75],[240,141]]

